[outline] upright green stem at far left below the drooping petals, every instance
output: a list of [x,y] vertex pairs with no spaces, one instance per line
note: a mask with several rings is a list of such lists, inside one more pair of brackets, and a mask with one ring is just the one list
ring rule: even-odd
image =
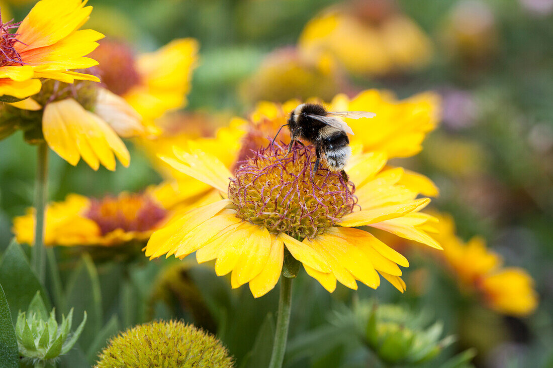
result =
[[41,282],[44,282],[46,270],[46,253],[44,250],[44,217],[46,197],[48,196],[48,145],[45,142],[38,144],[35,182],[35,209],[36,223],[31,265]]

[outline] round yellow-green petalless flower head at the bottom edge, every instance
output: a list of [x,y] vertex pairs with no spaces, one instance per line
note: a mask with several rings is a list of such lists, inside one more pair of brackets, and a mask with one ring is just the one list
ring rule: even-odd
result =
[[231,368],[227,349],[210,334],[175,320],[150,322],[113,338],[96,368]]

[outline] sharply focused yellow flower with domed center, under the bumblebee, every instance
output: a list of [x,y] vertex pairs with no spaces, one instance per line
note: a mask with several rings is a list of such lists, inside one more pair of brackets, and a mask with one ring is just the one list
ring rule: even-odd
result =
[[387,230],[434,248],[426,234],[435,219],[419,212],[430,202],[400,185],[401,168],[386,169],[384,154],[354,155],[341,175],[320,169],[313,176],[312,147],[273,145],[255,151],[234,171],[199,149],[174,148],[163,156],[175,169],[215,188],[220,201],[175,216],[154,232],[145,248],[150,258],[196,252],[198,262],[216,259],[219,276],[232,271],[233,288],[249,283],[254,297],[272,290],[285,254],[304,265],[328,291],[341,282],[376,288],[384,277],[403,291],[398,265],[408,261],[370,233],[354,227]]

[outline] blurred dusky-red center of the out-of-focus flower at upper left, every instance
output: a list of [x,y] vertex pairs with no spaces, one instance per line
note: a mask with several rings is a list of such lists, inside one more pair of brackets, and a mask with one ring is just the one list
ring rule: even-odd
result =
[[133,52],[126,44],[102,40],[90,57],[100,63],[100,79],[109,91],[122,96],[140,83]]

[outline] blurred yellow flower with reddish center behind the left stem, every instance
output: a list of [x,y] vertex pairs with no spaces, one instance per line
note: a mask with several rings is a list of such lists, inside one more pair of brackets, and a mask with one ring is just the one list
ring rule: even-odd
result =
[[[123,192],[102,199],[69,194],[65,201],[46,208],[44,244],[115,246],[145,241],[169,219],[159,191],[155,187],[144,193]],[[34,208],[29,208],[27,214],[14,218],[12,230],[19,243],[34,243],[34,213]]]

